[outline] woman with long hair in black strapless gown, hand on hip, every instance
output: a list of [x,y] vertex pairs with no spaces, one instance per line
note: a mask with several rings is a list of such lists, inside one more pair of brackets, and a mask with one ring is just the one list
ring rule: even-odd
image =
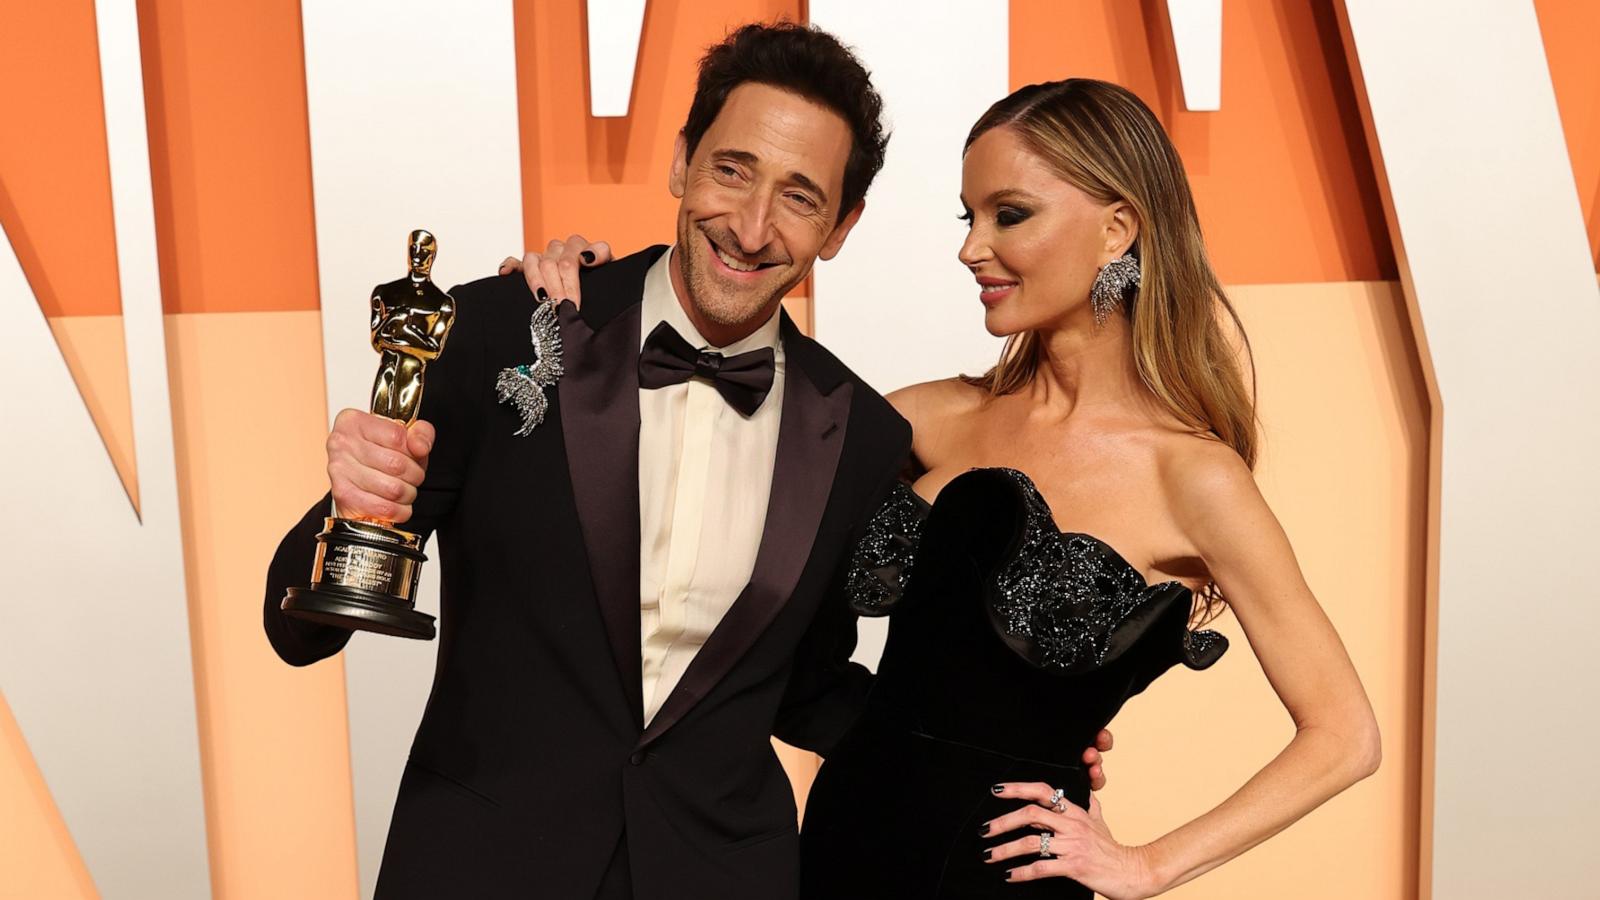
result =
[[[1378,727],[1251,477],[1238,320],[1157,119],[1106,82],[1030,85],[973,127],[962,171],[960,259],[1008,343],[981,378],[890,396],[917,471],[848,585],[888,642],[806,801],[802,890],[1152,897],[1376,770]],[[1118,844],[1078,748],[1162,673],[1224,653],[1203,628],[1224,597],[1296,735],[1211,812]]]

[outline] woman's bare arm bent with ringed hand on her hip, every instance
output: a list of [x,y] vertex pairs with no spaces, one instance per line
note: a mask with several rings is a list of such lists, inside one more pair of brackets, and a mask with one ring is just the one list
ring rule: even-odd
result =
[[[1232,860],[1378,769],[1366,692],[1250,469],[1219,444],[1182,456],[1163,479],[1176,520],[1227,597],[1294,737],[1219,806],[1142,847],[1118,844],[1098,802],[1056,814],[1034,796],[1048,786],[1008,785],[1002,796],[1034,806],[994,820],[990,833],[1056,831],[1056,858],[1013,870],[1013,879],[1067,876],[1114,900],[1152,897]],[[1038,852],[1038,838],[1011,841],[994,857],[1029,852]]]

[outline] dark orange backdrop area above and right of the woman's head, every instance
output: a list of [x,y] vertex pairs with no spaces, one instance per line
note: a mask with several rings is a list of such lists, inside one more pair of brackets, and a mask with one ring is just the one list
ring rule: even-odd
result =
[[1091,77],[1155,110],[1182,154],[1224,283],[1395,274],[1373,163],[1325,3],[1222,5],[1222,109],[1187,112],[1165,3],[1011,0],[1011,86]]

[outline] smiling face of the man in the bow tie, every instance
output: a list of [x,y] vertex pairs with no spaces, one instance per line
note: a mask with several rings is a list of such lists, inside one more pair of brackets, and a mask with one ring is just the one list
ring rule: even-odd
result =
[[672,282],[706,340],[725,346],[747,335],[818,256],[838,253],[861,215],[859,203],[838,210],[850,149],[838,114],[760,83],[728,93],[693,157],[678,136]]

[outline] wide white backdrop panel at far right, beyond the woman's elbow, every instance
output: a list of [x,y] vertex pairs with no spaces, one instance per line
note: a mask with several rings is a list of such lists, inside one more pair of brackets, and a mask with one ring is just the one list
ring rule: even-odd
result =
[[1443,400],[1434,897],[1592,895],[1600,293],[1539,22],[1346,13]]

